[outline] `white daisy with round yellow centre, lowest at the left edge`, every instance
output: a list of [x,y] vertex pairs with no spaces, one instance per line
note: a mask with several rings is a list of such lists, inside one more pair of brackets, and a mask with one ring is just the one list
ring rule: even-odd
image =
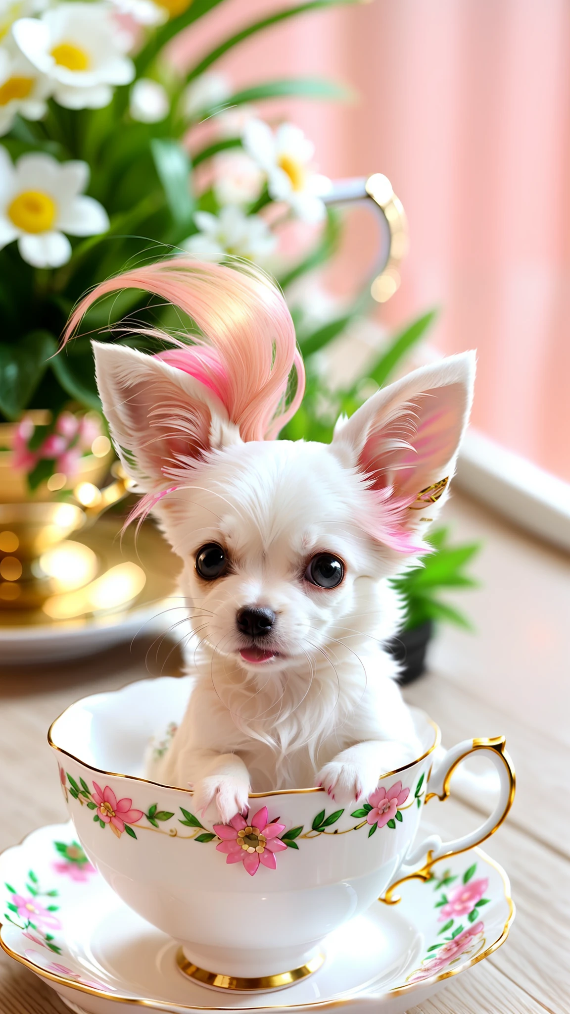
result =
[[70,236],[109,229],[98,201],[85,197],[86,162],[58,162],[31,152],[15,165],[0,145],[0,249],[18,241],[21,258],[34,268],[59,268],[71,257]]

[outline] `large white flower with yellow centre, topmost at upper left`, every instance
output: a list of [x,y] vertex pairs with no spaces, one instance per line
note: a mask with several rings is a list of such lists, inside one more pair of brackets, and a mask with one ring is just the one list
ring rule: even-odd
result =
[[130,37],[104,3],[62,3],[40,18],[16,21],[12,34],[68,110],[109,105],[113,85],[129,84],[135,76],[135,65],[125,56]]

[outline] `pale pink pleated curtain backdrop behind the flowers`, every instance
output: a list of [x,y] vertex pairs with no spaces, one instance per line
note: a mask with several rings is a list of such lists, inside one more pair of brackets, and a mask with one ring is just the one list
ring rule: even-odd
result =
[[[187,56],[276,6],[226,0]],[[264,113],[285,108],[329,175],[390,178],[412,246],[383,319],[439,304],[436,347],[479,352],[475,425],[567,480],[569,51],[567,0],[374,0],[303,15],[217,65],[238,86],[326,74],[357,89],[344,106]],[[345,256],[355,275],[365,232]]]

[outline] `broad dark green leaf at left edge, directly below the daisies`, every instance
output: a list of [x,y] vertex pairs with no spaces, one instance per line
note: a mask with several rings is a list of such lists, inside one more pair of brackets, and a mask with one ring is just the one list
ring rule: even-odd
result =
[[0,342],[0,409],[16,420],[38,387],[57,342],[47,331],[32,331],[13,344]]

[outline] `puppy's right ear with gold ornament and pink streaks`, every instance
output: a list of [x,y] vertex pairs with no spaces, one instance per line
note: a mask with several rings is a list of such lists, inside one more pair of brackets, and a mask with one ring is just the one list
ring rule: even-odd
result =
[[337,424],[333,450],[367,477],[404,530],[433,520],[445,499],[474,381],[475,353],[450,356],[378,390]]

